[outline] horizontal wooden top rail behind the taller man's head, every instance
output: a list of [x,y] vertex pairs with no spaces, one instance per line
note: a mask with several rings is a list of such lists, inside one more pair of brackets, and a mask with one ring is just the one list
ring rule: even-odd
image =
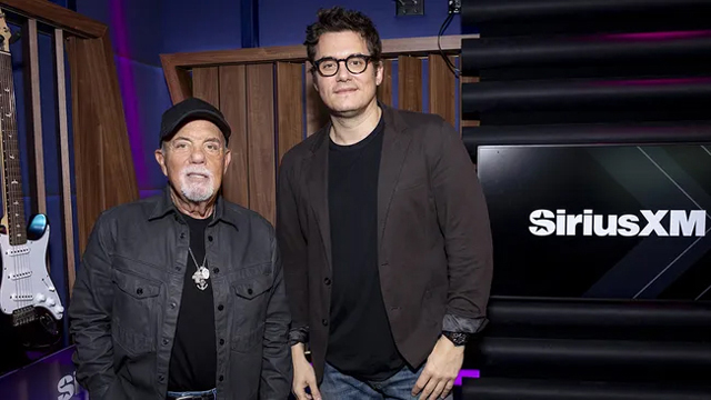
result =
[[[479,34],[443,36],[441,40],[442,51],[458,52],[461,50],[462,39],[479,38]],[[400,54],[420,54],[439,51],[437,37],[385,39],[382,41],[383,57],[397,57]],[[307,60],[304,46],[277,46],[254,49],[212,50],[198,52],[179,52],[161,54],[171,66],[193,68],[212,67],[223,64],[239,64],[266,61],[303,62]],[[164,66],[164,64],[163,64]]]

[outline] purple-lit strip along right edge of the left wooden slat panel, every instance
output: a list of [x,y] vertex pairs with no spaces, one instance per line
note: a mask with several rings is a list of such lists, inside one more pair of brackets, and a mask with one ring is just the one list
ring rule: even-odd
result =
[[130,50],[128,43],[128,29],[126,18],[123,17],[123,0],[109,0],[111,10],[111,28],[113,31],[113,43],[116,46],[114,58],[117,60],[117,72],[119,74],[119,87],[121,88],[121,98],[123,100],[123,113],[126,118],[126,127],[129,133],[129,143],[133,158],[133,167],[138,186],[144,187],[148,179],[148,169],[146,168],[142,134],[141,134],[141,117],[138,110],[138,96],[136,94],[136,83],[130,63]]

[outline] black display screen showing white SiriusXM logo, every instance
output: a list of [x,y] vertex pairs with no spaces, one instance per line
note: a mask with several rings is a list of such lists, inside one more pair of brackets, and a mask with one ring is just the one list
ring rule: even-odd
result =
[[711,300],[711,146],[488,146],[492,294]]

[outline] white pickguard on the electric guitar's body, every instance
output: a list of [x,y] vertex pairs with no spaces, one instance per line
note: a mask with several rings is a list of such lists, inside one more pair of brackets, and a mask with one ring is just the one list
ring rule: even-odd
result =
[[57,289],[47,273],[47,244],[49,226],[39,240],[28,240],[22,246],[11,246],[7,234],[0,234],[2,251],[2,284],[0,308],[12,314],[24,307],[42,307],[57,320],[64,313]]

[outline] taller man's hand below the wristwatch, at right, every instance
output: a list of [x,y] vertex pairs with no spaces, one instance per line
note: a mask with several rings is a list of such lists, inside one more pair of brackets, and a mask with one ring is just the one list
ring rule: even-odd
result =
[[441,337],[427,358],[424,369],[412,388],[412,396],[422,392],[422,400],[445,398],[452,390],[463,362],[464,347],[457,347],[445,337]]

